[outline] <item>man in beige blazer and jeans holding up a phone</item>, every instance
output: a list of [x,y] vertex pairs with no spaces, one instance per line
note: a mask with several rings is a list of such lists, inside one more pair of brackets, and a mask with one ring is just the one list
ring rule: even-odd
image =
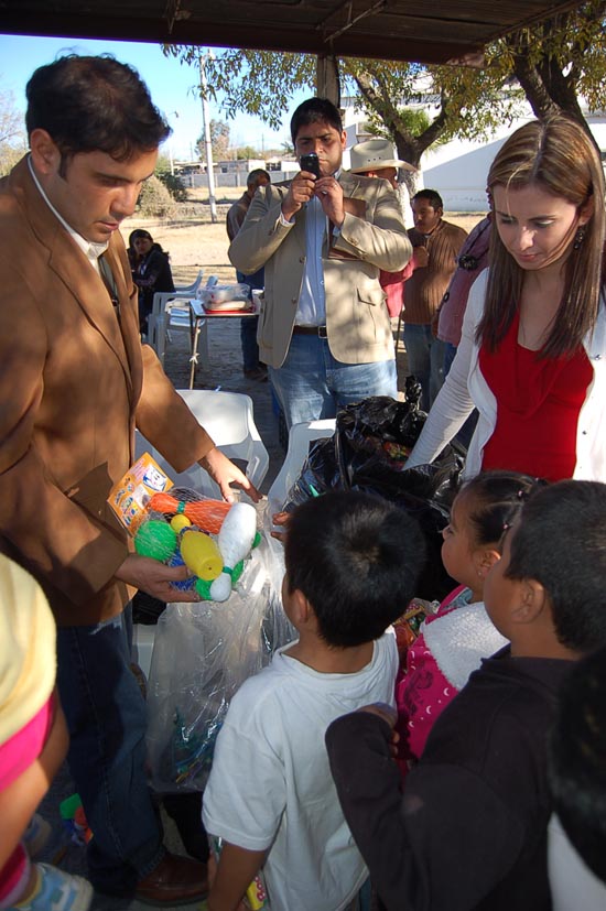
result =
[[368,395],[397,397],[379,271],[403,269],[412,252],[389,184],[342,171],[346,135],[331,101],[300,105],[291,134],[302,170],[257,193],[229,248],[239,271],[266,269],[260,358],[289,429]]

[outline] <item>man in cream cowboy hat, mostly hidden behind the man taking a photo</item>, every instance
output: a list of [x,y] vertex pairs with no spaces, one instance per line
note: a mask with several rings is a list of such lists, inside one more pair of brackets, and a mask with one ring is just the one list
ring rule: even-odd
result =
[[[366,177],[381,177],[388,181],[393,189],[398,187],[398,169],[415,172],[416,169],[402,159],[393,156],[393,145],[387,139],[369,139],[358,142],[349,150],[349,169],[351,174],[364,174]],[[413,250],[413,256],[399,272],[386,272],[381,269],[379,282],[387,294],[387,310],[390,316],[399,316],[404,300],[404,282],[410,279],[415,269],[428,264],[428,251],[424,247]]]

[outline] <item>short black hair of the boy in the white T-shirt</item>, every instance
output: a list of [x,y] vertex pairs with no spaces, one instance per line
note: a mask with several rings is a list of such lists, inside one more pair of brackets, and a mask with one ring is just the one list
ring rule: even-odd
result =
[[334,491],[292,514],[284,587],[304,595],[327,644],[351,648],[377,639],[404,611],[424,556],[419,525],[401,509]]

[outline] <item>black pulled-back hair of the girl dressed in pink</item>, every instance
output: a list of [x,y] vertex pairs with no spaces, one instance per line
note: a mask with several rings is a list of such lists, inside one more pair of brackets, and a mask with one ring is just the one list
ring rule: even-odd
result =
[[478,547],[500,543],[538,484],[518,471],[483,471],[463,485],[458,496],[472,498],[467,519]]

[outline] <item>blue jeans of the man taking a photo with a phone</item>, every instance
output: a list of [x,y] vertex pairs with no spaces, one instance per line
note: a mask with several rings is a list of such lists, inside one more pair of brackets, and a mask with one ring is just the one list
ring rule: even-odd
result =
[[269,373],[289,430],[302,421],[335,417],[337,409],[369,395],[398,398],[396,360],[343,364],[327,339],[315,335],[293,335],[284,364]]

